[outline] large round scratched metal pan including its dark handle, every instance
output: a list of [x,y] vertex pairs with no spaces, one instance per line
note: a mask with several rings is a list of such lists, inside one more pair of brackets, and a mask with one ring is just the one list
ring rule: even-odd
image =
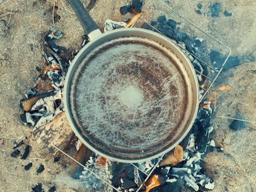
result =
[[118,162],[142,162],[173,149],[189,133],[198,109],[190,61],[150,30],[101,34],[80,1],[69,2],[92,40],[72,61],[64,86],[75,135]]

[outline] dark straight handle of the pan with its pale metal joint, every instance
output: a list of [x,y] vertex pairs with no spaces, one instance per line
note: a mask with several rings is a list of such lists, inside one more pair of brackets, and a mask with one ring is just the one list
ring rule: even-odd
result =
[[80,0],[68,0],[70,6],[74,9],[75,14],[80,20],[83,29],[85,30],[85,34],[92,40],[93,38],[101,35],[101,31],[98,28],[98,25],[92,19],[92,17],[88,14],[85,7]]

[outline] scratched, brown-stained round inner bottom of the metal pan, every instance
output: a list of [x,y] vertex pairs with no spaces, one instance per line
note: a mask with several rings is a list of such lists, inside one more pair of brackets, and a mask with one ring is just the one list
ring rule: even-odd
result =
[[70,104],[86,142],[108,156],[140,159],[177,140],[188,77],[169,48],[141,37],[101,44],[72,77]]

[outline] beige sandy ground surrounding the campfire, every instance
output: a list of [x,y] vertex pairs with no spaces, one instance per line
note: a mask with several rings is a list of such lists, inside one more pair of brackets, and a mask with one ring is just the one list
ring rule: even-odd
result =
[[[106,19],[127,19],[127,16],[119,14],[119,7],[127,2],[98,0],[90,14],[102,29]],[[199,2],[203,6],[202,15],[195,12]],[[241,59],[239,66],[221,73],[209,93],[210,96],[213,91],[218,92],[213,118],[215,130],[211,138],[224,148],[224,152],[215,149],[203,160],[203,165],[215,181],[213,191],[256,191],[256,1],[221,1],[220,16],[207,16],[204,13],[214,2],[169,2],[174,10],[229,46],[232,55]],[[54,163],[53,157],[41,155],[40,146],[32,146],[25,160],[10,156],[12,141],[24,140],[32,132],[20,121],[22,110],[19,101],[28,88],[35,85],[38,75],[35,67],[44,64],[40,42],[43,33],[53,28],[53,4],[58,6],[61,16],[55,23],[56,27],[64,33],[59,44],[79,49],[83,29],[65,0],[0,1],[0,15],[12,12],[11,15],[1,15],[0,19],[0,191],[31,191],[37,183],[42,183],[46,191],[51,186],[56,186],[57,191],[74,191],[54,182],[60,175],[66,175],[65,167],[70,163],[66,158]],[[224,10],[233,12],[233,16],[226,17]],[[220,91],[220,85],[228,85],[230,90]],[[245,122],[246,128],[234,131],[229,128],[232,120],[224,117],[236,117],[237,112],[249,122]],[[21,152],[24,147],[19,148]],[[33,162],[33,166],[25,171],[23,165],[28,162]],[[40,164],[45,166],[45,170],[36,174]]]

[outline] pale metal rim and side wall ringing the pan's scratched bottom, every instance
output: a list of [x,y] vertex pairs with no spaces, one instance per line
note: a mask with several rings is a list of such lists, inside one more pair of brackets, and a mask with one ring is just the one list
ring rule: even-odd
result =
[[[174,54],[181,60],[182,64],[184,65],[184,69],[186,70],[187,76],[189,77],[189,85],[188,86],[188,108],[187,112],[184,117],[184,122],[182,122],[181,128],[182,131],[179,136],[177,136],[176,141],[174,141],[170,146],[161,149],[159,151],[156,151],[153,155],[151,156],[143,156],[143,154],[137,156],[136,158],[132,157],[129,158],[127,156],[120,157],[120,156],[115,156],[115,154],[105,154],[104,151],[98,150],[96,148],[96,144],[92,146],[86,138],[86,136],[83,136],[82,131],[80,130],[79,127],[77,127],[73,113],[71,109],[71,104],[70,104],[70,97],[72,97],[72,77],[75,73],[75,70],[77,69],[77,66],[82,62],[83,58],[88,54],[88,52],[92,51],[95,49],[97,46],[100,44],[104,43],[105,41],[112,40],[114,38],[122,37],[122,36],[142,36],[145,38],[148,38],[153,41],[157,41],[160,44],[163,44],[163,46],[170,48]],[[179,144],[184,137],[189,133],[190,128],[192,127],[195,117],[197,115],[197,110],[198,110],[198,81],[197,77],[194,72],[194,68],[190,64],[189,59],[187,59],[186,56],[177,48],[173,43],[171,43],[167,38],[164,36],[155,33],[150,30],[145,30],[141,28],[123,28],[123,29],[118,29],[118,30],[113,30],[108,33],[105,33],[92,42],[88,43],[87,46],[82,48],[75,57],[74,61],[72,62],[72,65],[69,67],[69,71],[67,73],[66,81],[65,81],[65,86],[64,86],[64,106],[66,109],[66,114],[67,114],[67,119],[69,120],[69,123],[74,130],[75,135],[85,144],[90,148],[92,151],[96,152],[96,154],[99,154],[101,156],[104,156],[112,161],[117,161],[117,162],[125,162],[125,163],[135,163],[135,162],[143,162],[147,161],[150,159],[154,159],[156,157],[161,156],[162,154],[171,151],[177,144]]]

